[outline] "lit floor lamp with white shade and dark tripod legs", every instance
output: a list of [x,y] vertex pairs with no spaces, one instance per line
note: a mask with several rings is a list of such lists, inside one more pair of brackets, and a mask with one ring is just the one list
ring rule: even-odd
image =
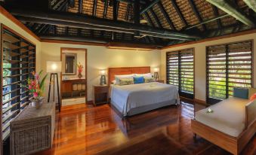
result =
[[[51,97],[51,79],[53,78],[53,99],[55,98],[55,78],[57,82],[57,96],[58,96],[58,109],[60,111],[60,89],[59,89],[59,78],[58,78],[58,72],[61,72],[61,62],[52,62],[47,61],[46,62],[46,71],[51,74],[50,76],[50,82],[49,82],[49,90],[48,90],[48,102],[50,102]],[[54,99],[55,100],[55,99]]]

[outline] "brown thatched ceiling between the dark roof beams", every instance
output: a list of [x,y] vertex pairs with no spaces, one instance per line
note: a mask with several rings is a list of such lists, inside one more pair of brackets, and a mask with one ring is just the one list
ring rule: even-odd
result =
[[[134,23],[137,15],[135,14],[134,17],[134,13],[136,13],[136,10],[134,10],[134,1],[137,0],[50,0],[48,2],[50,4],[48,8],[54,11],[84,14],[90,17],[97,17],[97,19],[113,20],[113,23],[116,20],[125,23]],[[246,17],[255,21],[254,11],[245,2],[242,0],[227,1],[232,3]],[[11,2],[15,2],[15,0]],[[11,2],[4,2],[4,5],[9,10],[14,6]],[[116,6],[114,5],[115,2]],[[236,20],[230,14],[227,14],[205,0],[140,0],[139,2],[139,18],[140,24],[143,26],[199,35],[200,38],[211,38],[241,32],[246,29],[254,29],[251,26],[246,26],[246,24]],[[16,8],[26,7],[25,5],[26,3],[24,3],[24,6],[19,5]],[[113,16],[115,16],[113,14],[113,8],[116,8],[116,20],[113,19]],[[42,38],[51,38],[55,35],[58,38],[63,37],[64,39],[90,38],[95,41],[155,44],[160,47],[186,42],[186,40],[162,38],[159,35],[140,35],[140,37],[136,37],[131,33],[106,31],[106,29],[81,29],[76,26],[45,24],[26,19],[23,19],[22,22]]]

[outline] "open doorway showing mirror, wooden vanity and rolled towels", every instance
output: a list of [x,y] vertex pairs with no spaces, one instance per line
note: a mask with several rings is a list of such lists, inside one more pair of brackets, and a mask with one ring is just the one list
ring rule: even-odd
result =
[[62,72],[60,74],[61,105],[86,103],[87,98],[87,49],[60,48]]

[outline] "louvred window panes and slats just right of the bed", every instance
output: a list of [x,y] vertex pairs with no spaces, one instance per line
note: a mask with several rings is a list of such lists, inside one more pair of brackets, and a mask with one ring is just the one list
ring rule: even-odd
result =
[[177,86],[180,96],[194,98],[193,48],[166,53],[167,84]]

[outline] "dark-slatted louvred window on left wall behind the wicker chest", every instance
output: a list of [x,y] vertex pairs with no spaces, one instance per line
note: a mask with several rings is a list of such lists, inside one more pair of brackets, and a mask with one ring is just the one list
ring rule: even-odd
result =
[[10,133],[10,122],[29,104],[26,85],[35,70],[35,46],[7,27],[2,29],[2,140]]

